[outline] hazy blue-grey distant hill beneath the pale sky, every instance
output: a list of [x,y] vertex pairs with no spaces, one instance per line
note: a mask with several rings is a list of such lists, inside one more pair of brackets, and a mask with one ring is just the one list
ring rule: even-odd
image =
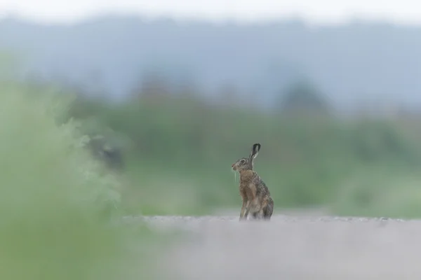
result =
[[302,22],[212,25],[103,17],[77,25],[0,21],[0,48],[27,58],[25,71],[124,97],[149,70],[193,79],[212,92],[227,83],[272,102],[307,76],[338,106],[356,101],[421,104],[421,28]]

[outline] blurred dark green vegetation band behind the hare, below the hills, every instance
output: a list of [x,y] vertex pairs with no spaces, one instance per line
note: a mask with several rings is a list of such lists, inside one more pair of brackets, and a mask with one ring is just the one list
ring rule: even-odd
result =
[[[288,87],[267,111],[253,106],[253,99],[224,95],[209,101],[191,88],[180,93],[154,82],[127,102],[81,97],[70,111],[83,120],[86,134],[101,134],[113,147],[106,161],[127,180],[122,200],[128,214],[205,214],[239,207],[230,166],[255,142],[262,144],[255,169],[280,209],[328,206],[340,214],[382,215],[375,205],[388,209],[385,196],[394,197],[401,188],[410,194],[414,181],[407,182],[408,176],[421,178],[417,123],[337,118],[311,84]],[[370,172],[373,168],[377,172]],[[366,191],[384,196],[373,195],[361,207]],[[404,195],[396,200],[406,204]],[[421,216],[421,204],[384,213]]]

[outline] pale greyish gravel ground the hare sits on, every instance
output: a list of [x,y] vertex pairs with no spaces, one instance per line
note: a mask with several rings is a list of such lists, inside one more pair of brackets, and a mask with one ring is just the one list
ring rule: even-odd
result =
[[275,215],[269,223],[239,223],[236,215],[139,219],[191,234],[159,260],[168,279],[421,279],[421,221],[308,214]]

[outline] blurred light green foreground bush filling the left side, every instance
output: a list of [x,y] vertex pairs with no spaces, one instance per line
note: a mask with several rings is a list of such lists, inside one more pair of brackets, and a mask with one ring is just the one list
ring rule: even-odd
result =
[[151,279],[162,238],[116,226],[121,179],[88,153],[60,91],[0,82],[0,279]]

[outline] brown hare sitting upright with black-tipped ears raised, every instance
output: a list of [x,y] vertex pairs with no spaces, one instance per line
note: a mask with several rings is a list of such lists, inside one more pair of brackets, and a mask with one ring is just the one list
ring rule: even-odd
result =
[[260,144],[254,144],[248,158],[241,158],[232,165],[232,170],[240,174],[240,195],[243,200],[240,221],[246,220],[248,214],[255,219],[269,221],[274,211],[274,201],[269,189],[260,176],[253,171],[253,160],[258,156]]

